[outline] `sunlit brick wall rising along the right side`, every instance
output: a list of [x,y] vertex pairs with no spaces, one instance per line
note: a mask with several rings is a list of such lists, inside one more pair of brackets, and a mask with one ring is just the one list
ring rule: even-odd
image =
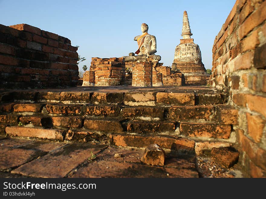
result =
[[266,1],[237,0],[213,45],[210,85],[238,109],[240,162],[266,177]]

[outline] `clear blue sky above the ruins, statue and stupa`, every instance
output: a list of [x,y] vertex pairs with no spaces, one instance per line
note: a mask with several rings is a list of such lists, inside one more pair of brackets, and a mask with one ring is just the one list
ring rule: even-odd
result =
[[212,45],[235,0],[154,1],[57,1],[0,0],[0,24],[29,24],[59,34],[79,46],[78,53],[90,66],[91,57],[121,57],[137,50],[133,40],[141,24],[156,37],[157,55],[171,66],[175,47],[182,38],[183,11],[187,11],[194,43],[200,46],[206,69],[212,68]]

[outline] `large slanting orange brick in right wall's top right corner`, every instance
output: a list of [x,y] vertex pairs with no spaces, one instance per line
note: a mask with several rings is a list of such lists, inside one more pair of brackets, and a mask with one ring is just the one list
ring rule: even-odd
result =
[[253,28],[257,27],[266,19],[266,2],[262,2],[261,6],[256,9],[238,29],[239,40],[242,40]]

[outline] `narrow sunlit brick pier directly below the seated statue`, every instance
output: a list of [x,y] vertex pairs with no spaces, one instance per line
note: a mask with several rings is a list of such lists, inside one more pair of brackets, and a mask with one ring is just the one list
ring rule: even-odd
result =
[[152,62],[142,62],[132,67],[132,86],[152,86]]

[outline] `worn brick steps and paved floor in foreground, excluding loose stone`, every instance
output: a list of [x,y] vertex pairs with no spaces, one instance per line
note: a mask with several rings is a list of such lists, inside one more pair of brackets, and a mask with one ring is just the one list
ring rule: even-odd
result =
[[[2,177],[239,177],[238,113],[206,86],[2,90],[0,100]],[[141,162],[153,143],[164,166]]]

